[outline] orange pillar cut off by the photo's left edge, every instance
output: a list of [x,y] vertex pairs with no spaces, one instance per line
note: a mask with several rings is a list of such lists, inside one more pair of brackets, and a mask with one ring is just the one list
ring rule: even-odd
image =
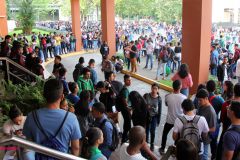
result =
[[8,34],[7,6],[5,0],[0,0],[0,36],[3,38]]

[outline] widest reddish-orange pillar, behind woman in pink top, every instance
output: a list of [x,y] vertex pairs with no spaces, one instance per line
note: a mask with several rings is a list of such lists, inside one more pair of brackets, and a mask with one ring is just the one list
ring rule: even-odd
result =
[[183,0],[183,63],[187,63],[194,86],[208,80],[210,37],[212,26],[212,0]]

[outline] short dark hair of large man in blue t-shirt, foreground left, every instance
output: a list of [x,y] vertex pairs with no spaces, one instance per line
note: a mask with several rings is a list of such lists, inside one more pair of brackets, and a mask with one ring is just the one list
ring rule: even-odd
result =
[[61,80],[50,79],[44,84],[43,96],[48,103],[56,102],[63,95]]

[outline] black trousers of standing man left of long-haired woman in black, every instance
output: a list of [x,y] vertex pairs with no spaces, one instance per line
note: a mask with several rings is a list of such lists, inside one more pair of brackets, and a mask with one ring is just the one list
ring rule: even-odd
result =
[[123,109],[121,111],[123,116],[123,135],[122,135],[122,143],[125,143],[128,140],[128,132],[131,129],[131,114],[126,110]]

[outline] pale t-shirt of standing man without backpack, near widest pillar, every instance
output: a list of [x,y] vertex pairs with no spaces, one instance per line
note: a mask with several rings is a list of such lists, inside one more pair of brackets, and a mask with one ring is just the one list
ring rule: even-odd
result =
[[181,93],[178,93],[178,94],[171,93],[166,95],[165,103],[166,103],[166,106],[168,107],[166,122],[168,124],[174,124],[176,118],[178,116],[183,115],[183,110],[181,105],[184,99],[187,99],[187,97]]

